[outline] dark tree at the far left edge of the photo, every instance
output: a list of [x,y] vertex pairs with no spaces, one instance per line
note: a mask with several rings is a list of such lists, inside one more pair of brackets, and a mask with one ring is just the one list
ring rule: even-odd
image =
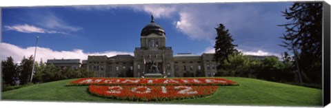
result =
[[15,79],[17,78],[17,65],[14,64],[12,56],[8,57],[6,61],[1,61],[2,65],[2,79],[8,85],[15,85]]

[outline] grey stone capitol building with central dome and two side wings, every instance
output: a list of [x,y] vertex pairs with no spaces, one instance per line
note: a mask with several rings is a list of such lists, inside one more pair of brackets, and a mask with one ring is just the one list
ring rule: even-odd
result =
[[83,61],[84,67],[94,72],[95,77],[128,77],[128,73],[141,77],[150,70],[150,64],[168,77],[210,77],[217,72],[213,54],[173,55],[172,47],[165,44],[165,30],[154,22],[153,17],[140,35],[141,45],[135,47],[134,56],[88,56],[88,60]]

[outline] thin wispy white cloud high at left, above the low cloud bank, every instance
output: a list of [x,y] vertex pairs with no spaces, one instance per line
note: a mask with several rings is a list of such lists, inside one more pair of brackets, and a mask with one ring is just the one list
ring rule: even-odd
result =
[[25,33],[49,33],[49,34],[54,34],[54,33],[61,33],[61,34],[66,34],[65,32],[57,32],[54,30],[46,30],[43,28],[38,28],[35,27],[34,25],[28,25],[28,24],[23,24],[23,25],[12,25],[12,26],[8,26],[5,25],[4,28],[6,30],[14,30],[17,32],[25,32]]

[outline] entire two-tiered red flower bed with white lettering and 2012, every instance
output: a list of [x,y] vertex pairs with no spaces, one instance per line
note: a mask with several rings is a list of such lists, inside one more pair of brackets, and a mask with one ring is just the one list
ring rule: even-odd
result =
[[90,94],[105,98],[163,101],[210,96],[221,85],[238,84],[224,78],[80,78],[67,85],[88,85]]

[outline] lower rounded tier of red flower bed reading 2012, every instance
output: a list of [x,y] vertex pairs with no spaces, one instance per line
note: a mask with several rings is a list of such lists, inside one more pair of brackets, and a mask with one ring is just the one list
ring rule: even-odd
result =
[[210,96],[217,88],[218,86],[90,85],[88,91],[96,96],[120,100],[163,101]]

